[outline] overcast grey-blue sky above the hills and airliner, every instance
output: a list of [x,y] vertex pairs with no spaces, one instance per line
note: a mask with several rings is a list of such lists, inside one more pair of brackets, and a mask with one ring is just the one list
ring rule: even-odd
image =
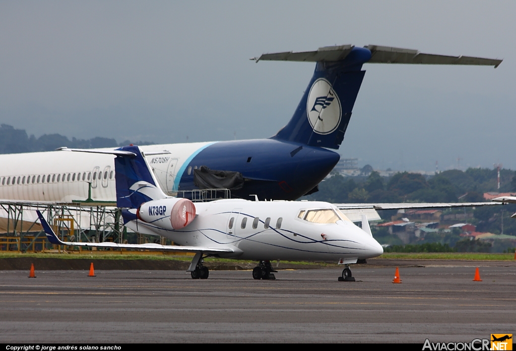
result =
[[514,1],[1,2],[0,123],[119,142],[269,137],[315,64],[249,58],[376,44],[504,62],[365,64],[343,157],[516,169],[515,15]]

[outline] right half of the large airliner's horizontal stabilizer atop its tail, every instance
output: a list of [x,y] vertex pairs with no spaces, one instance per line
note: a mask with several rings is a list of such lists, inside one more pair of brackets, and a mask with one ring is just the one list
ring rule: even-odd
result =
[[417,50],[390,46],[367,45],[364,47],[371,51],[371,59],[367,63],[477,65],[494,66],[494,68],[502,63],[502,60],[480,57],[422,54]]

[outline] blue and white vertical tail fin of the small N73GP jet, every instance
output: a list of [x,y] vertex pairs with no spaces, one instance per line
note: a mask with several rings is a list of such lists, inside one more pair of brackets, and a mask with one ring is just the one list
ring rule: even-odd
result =
[[154,174],[137,146],[117,150],[133,153],[117,154],[115,159],[117,207],[138,208],[144,202],[167,197],[157,186]]

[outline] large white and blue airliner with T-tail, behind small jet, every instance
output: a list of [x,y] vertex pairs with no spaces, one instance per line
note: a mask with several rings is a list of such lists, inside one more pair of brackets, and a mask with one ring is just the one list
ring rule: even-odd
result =
[[[142,146],[157,184],[167,195],[220,187],[229,188],[232,198],[241,199],[257,195],[259,199],[295,200],[311,194],[340,159],[332,150],[344,139],[364,79],[363,64],[496,68],[502,62],[376,45],[279,52],[252,60],[315,62],[312,79],[291,120],[268,139]],[[109,153],[112,149],[95,151]],[[0,199],[71,202],[85,200],[90,194],[93,200],[116,200],[114,161],[108,154],[7,154],[0,155],[0,164]]]

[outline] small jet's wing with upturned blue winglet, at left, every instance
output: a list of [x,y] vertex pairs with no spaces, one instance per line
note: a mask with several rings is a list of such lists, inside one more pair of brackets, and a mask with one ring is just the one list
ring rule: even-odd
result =
[[96,248],[116,248],[116,249],[144,249],[153,251],[172,251],[172,252],[203,252],[206,254],[217,254],[222,252],[233,252],[230,248],[208,248],[200,246],[172,246],[172,245],[160,245],[155,243],[148,244],[119,244],[116,242],[72,242],[72,241],[61,241],[52,230],[52,227],[47,223],[43,215],[39,210],[39,220],[45,231],[46,238],[53,244],[56,245],[69,245],[69,246],[83,246],[83,247],[96,247]]

